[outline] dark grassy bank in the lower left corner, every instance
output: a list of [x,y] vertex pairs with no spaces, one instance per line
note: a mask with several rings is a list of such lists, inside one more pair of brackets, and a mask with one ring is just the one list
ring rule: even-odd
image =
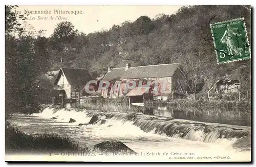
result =
[[26,134],[16,127],[6,127],[5,134],[6,153],[49,153],[59,151],[83,151],[89,152],[86,147],[79,147],[68,136],[60,136],[54,133],[38,135]]

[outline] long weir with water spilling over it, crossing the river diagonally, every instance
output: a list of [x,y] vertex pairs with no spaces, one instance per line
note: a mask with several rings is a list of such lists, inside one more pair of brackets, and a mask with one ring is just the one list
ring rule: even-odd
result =
[[66,114],[69,118],[72,117],[75,120],[90,120],[91,117],[97,115],[104,117],[107,121],[129,122],[144,132],[203,142],[216,142],[218,139],[233,140],[251,135],[251,128],[245,126],[177,120],[140,113],[46,108],[41,114],[47,118]]

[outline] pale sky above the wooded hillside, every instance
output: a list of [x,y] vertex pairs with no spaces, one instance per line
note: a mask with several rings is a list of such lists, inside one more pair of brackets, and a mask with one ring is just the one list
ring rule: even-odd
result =
[[[120,25],[122,22],[129,20],[135,21],[140,16],[146,15],[150,18],[154,18],[157,14],[174,14],[182,6],[178,5],[163,5],[163,6],[110,6],[110,5],[81,5],[81,6],[19,6],[16,12],[20,11],[20,14],[30,12],[27,16],[29,20],[26,20],[27,24],[34,27],[36,31],[40,29],[46,30],[45,36],[49,37],[57,23],[61,21],[70,21],[80,32],[93,33],[102,29],[110,29],[113,25]],[[62,11],[76,11],[80,14],[61,14],[57,13],[57,10]],[[35,14],[34,11],[46,11],[47,14]],[[51,11],[51,14],[49,14]],[[55,13],[54,13],[55,12]],[[58,11],[59,12],[59,11]],[[52,19],[50,19],[52,18]]]

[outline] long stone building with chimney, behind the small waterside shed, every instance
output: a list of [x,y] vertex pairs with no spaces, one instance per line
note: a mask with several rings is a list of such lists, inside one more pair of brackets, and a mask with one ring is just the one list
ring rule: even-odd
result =
[[[152,98],[155,96],[159,100],[166,100],[167,96],[173,92],[180,94],[185,94],[186,92],[184,86],[185,80],[179,68],[179,63],[135,67],[127,63],[123,68],[109,68],[103,80],[112,82],[110,89],[105,90],[103,94],[104,98],[107,97],[106,94],[109,94],[109,98],[113,99],[125,96],[125,84],[130,81],[135,81],[136,87],[141,81],[143,81],[143,84],[150,82],[150,90],[154,89],[155,84],[158,84],[157,92],[154,92],[154,94],[150,93],[151,96],[143,95],[144,98]],[[116,81],[120,82],[120,87],[118,88],[113,87],[113,83]],[[163,85],[165,86],[164,88]],[[161,91],[163,89],[165,89],[165,91]],[[126,96],[130,94],[136,98],[138,98],[137,96],[142,96],[142,92],[138,92],[138,94],[136,94],[135,90],[132,90],[132,92],[133,93],[126,94]],[[143,94],[145,94],[145,92],[143,92]]]

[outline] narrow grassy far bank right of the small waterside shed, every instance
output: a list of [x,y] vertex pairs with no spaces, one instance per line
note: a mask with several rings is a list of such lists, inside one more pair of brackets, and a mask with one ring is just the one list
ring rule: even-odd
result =
[[246,101],[224,101],[224,100],[192,100],[192,99],[175,99],[169,102],[161,101],[148,101],[148,104],[165,104],[173,105],[179,107],[241,107],[241,108],[250,108],[251,103]]

